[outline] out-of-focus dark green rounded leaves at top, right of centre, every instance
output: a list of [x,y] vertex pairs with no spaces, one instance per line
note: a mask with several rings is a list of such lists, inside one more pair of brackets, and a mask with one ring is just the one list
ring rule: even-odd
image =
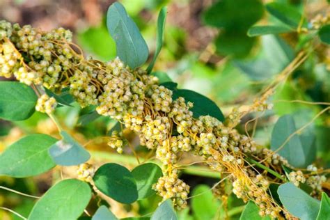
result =
[[[241,5],[244,5],[244,10],[237,7]],[[263,6],[259,0],[225,0],[218,1],[205,10],[203,21],[224,29],[215,40],[219,54],[243,57],[249,54],[255,43],[255,39],[246,36],[246,32],[262,14]]]

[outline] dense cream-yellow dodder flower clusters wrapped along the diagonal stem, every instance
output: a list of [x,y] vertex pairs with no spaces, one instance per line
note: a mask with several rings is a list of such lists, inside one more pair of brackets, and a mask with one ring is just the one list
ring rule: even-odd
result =
[[[268,193],[266,178],[270,177],[267,173],[260,175],[244,157],[249,155],[260,161],[267,157],[263,163],[280,171],[281,165],[286,165],[285,160],[271,150],[259,150],[247,136],[216,118],[194,118],[189,110],[193,104],[185,102],[183,97],[172,100],[172,91],[159,86],[155,77],[143,70],[130,70],[118,58],[108,63],[85,59],[74,52],[72,35],[64,29],[45,33],[31,26],[21,28],[0,22],[0,36],[0,61],[2,56],[10,54],[0,68],[14,60],[14,64],[10,61],[13,68],[1,75],[14,75],[22,83],[42,85],[55,92],[69,87],[81,107],[97,105],[101,115],[116,118],[139,132],[141,143],[156,149],[156,157],[164,164],[164,176],[154,189],[164,200],[171,198],[175,207],[185,207],[189,194],[189,186],[178,178],[178,155],[191,151],[203,157],[214,171],[230,173],[233,192],[244,201],[255,201],[261,215],[280,219],[281,211],[287,215]],[[20,73],[19,68],[28,73]],[[251,109],[265,110],[269,95],[257,100]],[[240,116],[233,117],[233,122]],[[114,146],[122,148],[121,142]]]

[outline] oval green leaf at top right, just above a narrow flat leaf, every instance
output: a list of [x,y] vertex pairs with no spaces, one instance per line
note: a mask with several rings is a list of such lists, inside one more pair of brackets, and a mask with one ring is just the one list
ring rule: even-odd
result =
[[[271,15],[279,19],[284,24],[288,24],[288,26],[291,26],[294,29],[299,26],[302,19],[302,16],[299,11],[286,3],[267,3],[266,9]],[[303,21],[302,24],[304,27],[307,26],[305,21]]]

